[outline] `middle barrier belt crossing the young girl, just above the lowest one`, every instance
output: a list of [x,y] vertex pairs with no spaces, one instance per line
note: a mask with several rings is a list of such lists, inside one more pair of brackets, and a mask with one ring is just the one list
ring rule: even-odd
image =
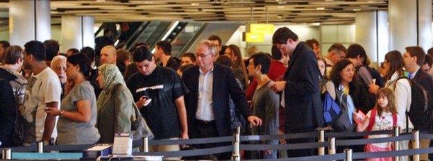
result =
[[364,144],[382,143],[382,142],[396,142],[396,141],[409,140],[413,138],[414,138],[413,135],[407,134],[407,135],[400,135],[398,137],[381,137],[381,138],[374,138],[374,139],[342,139],[342,140],[335,140],[335,145],[336,146],[364,145]]

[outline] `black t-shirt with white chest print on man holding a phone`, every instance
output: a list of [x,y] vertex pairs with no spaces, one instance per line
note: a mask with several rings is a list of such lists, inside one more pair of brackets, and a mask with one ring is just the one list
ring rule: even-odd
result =
[[180,121],[174,100],[187,94],[188,90],[176,71],[157,66],[151,75],[144,76],[140,72],[133,74],[126,85],[134,101],[144,95],[152,99],[140,112],[155,139],[180,137]]

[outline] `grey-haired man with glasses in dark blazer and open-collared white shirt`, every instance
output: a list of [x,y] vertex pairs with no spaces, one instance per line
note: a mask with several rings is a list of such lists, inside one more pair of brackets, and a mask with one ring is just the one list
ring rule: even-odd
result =
[[[217,46],[209,40],[198,44],[196,62],[198,66],[185,70],[182,80],[189,89],[185,95],[188,130],[191,138],[221,137],[232,135],[230,130],[229,96],[235,107],[253,126],[262,120],[251,115],[245,93],[237,85],[232,70],[214,63]],[[221,144],[219,144],[221,145]],[[219,146],[206,144],[198,148]],[[217,155],[219,159],[230,159],[230,153]]]

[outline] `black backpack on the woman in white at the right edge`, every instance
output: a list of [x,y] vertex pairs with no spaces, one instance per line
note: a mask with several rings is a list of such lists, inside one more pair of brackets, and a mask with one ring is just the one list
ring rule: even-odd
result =
[[[414,130],[432,131],[433,123],[433,107],[432,96],[420,84],[406,77],[399,78],[407,79],[411,86],[411,104],[410,110],[406,111],[406,116],[409,117]],[[406,121],[406,129],[409,128],[409,123]]]

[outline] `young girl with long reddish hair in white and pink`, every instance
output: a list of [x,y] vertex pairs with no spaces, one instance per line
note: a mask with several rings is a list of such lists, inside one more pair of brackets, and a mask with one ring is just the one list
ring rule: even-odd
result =
[[[391,130],[397,126],[397,111],[394,105],[394,94],[389,88],[383,88],[377,92],[377,103],[370,110],[362,124],[357,125],[357,131]],[[389,135],[369,135],[368,138],[390,137]],[[391,142],[366,144],[366,152],[391,151]],[[387,158],[368,158],[368,161],[391,161]]]

